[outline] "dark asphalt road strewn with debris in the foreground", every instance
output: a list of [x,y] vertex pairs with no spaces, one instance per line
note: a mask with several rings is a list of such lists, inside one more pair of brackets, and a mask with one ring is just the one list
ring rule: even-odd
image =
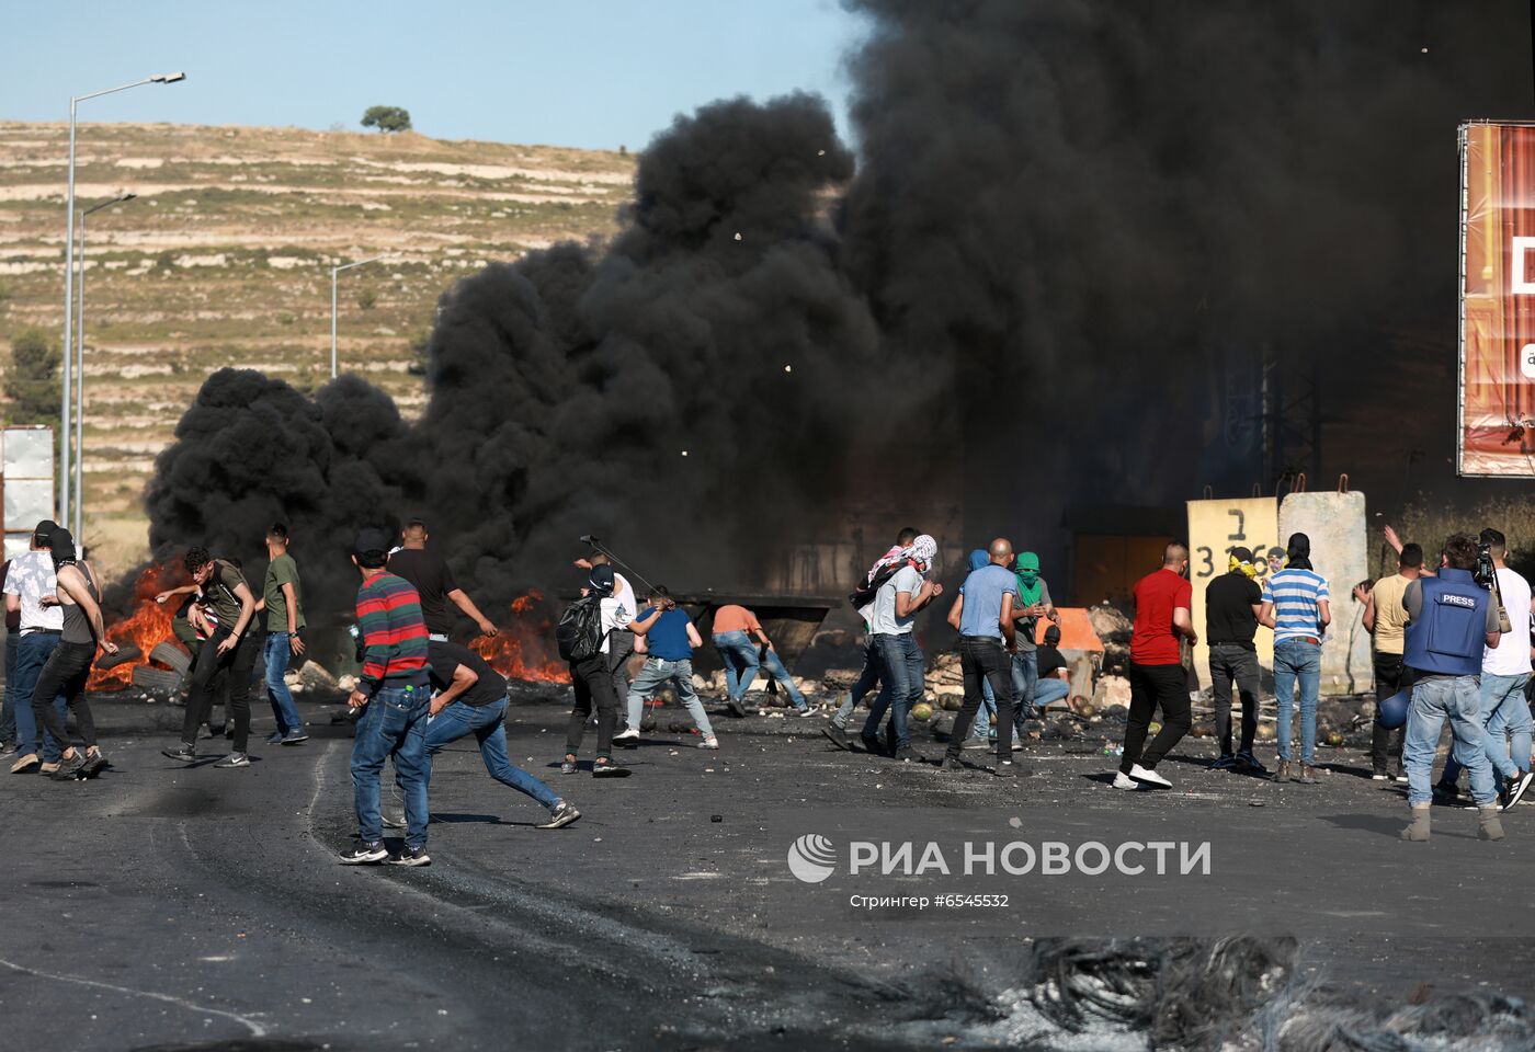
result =
[[[721,715],[718,753],[663,731],[625,754],[632,777],[596,781],[550,767],[565,710],[520,704],[513,759],[580,822],[533,828],[542,810],[459,742],[433,771],[433,865],[348,868],[335,856],[353,833],[350,728],[321,707],[307,707],[310,742],[258,747],[235,771],[160,756],[175,735],[149,731],[180,710],[98,712],[114,762],[100,779],[5,781],[8,1047],[985,1046],[1007,1034],[995,998],[1030,939],[1064,932],[1291,931],[1315,977],[1358,997],[1530,992],[1518,894],[1535,808],[1503,843],[1435,808],[1434,842],[1401,845],[1397,790],[1358,777],[1352,754],[1323,785],[1276,787],[1202,770],[1205,744],[1190,742],[1164,767],[1174,791],[1125,794],[1102,781],[1096,742],[1032,744],[1028,776],[1007,785],[835,751],[820,719]],[[810,885],[786,865],[801,833],[838,850],[1210,840],[1213,873],[966,883],[841,866]],[[972,889],[1010,905],[849,905]]]

